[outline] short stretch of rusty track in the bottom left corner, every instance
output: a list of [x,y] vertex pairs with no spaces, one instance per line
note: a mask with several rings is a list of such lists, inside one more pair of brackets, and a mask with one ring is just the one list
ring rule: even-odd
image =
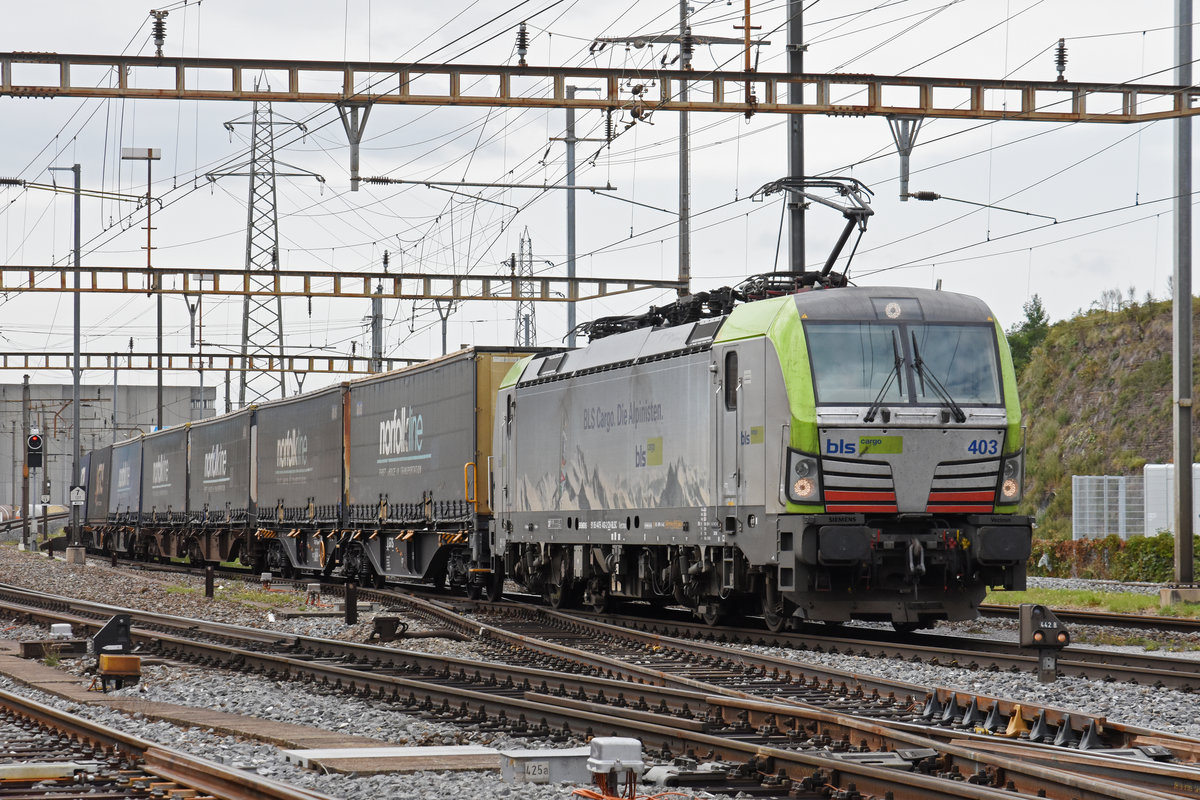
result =
[[0,692],[0,796],[329,800]]

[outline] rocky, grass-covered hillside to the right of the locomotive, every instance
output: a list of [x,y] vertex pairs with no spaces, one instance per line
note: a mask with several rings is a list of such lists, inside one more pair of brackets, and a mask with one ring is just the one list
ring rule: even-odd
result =
[[[1200,302],[1192,311],[1200,331]],[[1171,461],[1171,303],[1120,303],[1050,326],[1019,384],[1022,511],[1038,537],[1069,539],[1072,475],[1139,475]],[[1194,409],[1193,440],[1198,417]]]

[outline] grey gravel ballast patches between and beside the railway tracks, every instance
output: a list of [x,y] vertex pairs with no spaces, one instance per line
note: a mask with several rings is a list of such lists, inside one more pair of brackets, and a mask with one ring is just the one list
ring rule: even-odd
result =
[[[130,575],[121,571],[114,579],[114,571],[107,566],[68,567],[62,561],[49,560],[28,553],[18,553],[11,547],[0,547],[0,570],[5,582],[34,587],[53,594],[86,597],[114,606],[152,609],[184,616],[203,616],[224,622],[264,627],[305,636],[365,640],[372,630],[371,615],[362,622],[348,627],[340,618],[282,619],[278,612],[302,603],[304,595],[290,591],[278,593],[278,602],[259,602],[260,597],[247,601],[234,597],[228,585],[218,591],[217,599],[205,600],[202,594],[203,579],[184,575]],[[1112,584],[1097,585],[1094,582],[1062,578],[1031,578],[1030,585],[1052,588],[1087,588],[1111,590]],[[1122,584],[1121,590],[1157,593],[1157,588]],[[388,612],[396,614],[396,612]],[[401,614],[403,616],[403,614]],[[412,630],[420,630],[424,620],[404,618]],[[990,638],[1015,638],[1015,622],[983,620],[958,624],[953,630]],[[1073,631],[1075,633],[1075,631]],[[44,628],[24,625],[5,625],[0,620],[2,638],[38,638]],[[1130,636],[1120,631],[1120,636]],[[1076,633],[1076,640],[1079,636]],[[430,652],[479,658],[469,642],[430,638],[395,643],[406,649],[422,649]],[[948,686],[961,691],[1031,700],[1066,709],[1078,710],[1084,716],[1104,716],[1112,722],[1169,730],[1200,738],[1200,722],[1195,716],[1195,696],[1151,686],[1092,682],[1078,678],[1060,678],[1054,684],[1039,684],[1034,675],[1012,673],[988,673],[953,667],[914,664],[863,656],[816,654],[778,648],[749,648],[757,652],[791,658],[797,662],[818,663],[865,674],[887,675],[914,684]],[[80,673],[82,661],[64,661],[62,667]],[[198,676],[203,672],[203,680]],[[570,796],[571,787],[509,786],[496,772],[418,772],[410,775],[344,776],[318,775],[283,762],[280,751],[270,745],[238,740],[214,734],[211,730],[187,729],[125,716],[95,706],[78,706],[56,698],[14,687],[0,676],[0,687],[19,693],[32,693],[42,702],[68,708],[72,712],[101,720],[134,735],[180,747],[198,756],[226,764],[236,764],[259,775],[314,788],[337,798],[358,799],[379,796],[420,800],[460,800],[475,798],[521,798],[522,800],[548,800]],[[361,702],[341,693],[326,693],[313,687],[283,684],[265,678],[220,673],[178,666],[148,666],[139,685],[120,690],[120,694],[136,696],[149,700],[181,705],[212,708],[270,720],[308,724],[328,730],[344,730],[356,735],[380,739],[395,745],[485,745],[497,748],[524,748],[539,746],[575,746],[578,742],[530,741],[504,734],[479,734],[464,732],[455,726],[412,717],[401,710],[380,706],[377,702]],[[708,796],[698,793],[696,796]]]

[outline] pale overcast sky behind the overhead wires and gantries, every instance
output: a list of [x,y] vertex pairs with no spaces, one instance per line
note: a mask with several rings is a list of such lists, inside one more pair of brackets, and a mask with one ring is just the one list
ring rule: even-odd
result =
[[[652,66],[662,46],[610,46],[589,53],[599,36],[654,35],[678,26],[674,0],[530,0],[439,4],[344,0],[312,2],[176,2],[167,18],[167,55],[428,60],[512,64],[515,30],[529,23],[528,61],[535,65]],[[781,0],[752,4],[757,36],[770,41],[755,58],[763,71],[785,68]],[[1172,4],[1099,0],[815,0],[805,6],[805,68],[938,77],[1052,80],[1054,46],[1067,40],[1067,78],[1079,82],[1172,83]],[[738,36],[743,4],[692,2],[694,31]],[[1086,10],[1086,11],[1084,11]],[[80,54],[152,54],[144,4],[7,4],[0,50]],[[697,70],[737,68],[737,47],[701,47]],[[264,80],[278,80],[264,76]],[[96,74],[96,80],[107,79]],[[122,164],[122,146],[160,148],[154,194],[157,265],[233,267],[245,264],[247,179],[203,175],[238,164],[247,151],[248,103],[0,98],[0,175],[48,182],[52,166],[78,162],[89,188],[145,192],[144,164]],[[528,229],[539,271],[565,275],[565,197],[562,192],[472,190],[492,203],[424,186],[364,186],[349,192],[349,150],[330,107],[276,104],[278,115],[304,120],[304,138],[277,128],[277,158],[319,173],[278,181],[281,265],[287,269],[394,269],[434,273],[497,273]],[[562,110],[379,107],[367,124],[362,174],[442,181],[560,182]],[[677,273],[677,131],[673,115],[656,113],[625,127],[611,145],[578,146],[581,185],[611,184],[620,199],[578,194],[581,275],[673,278]],[[602,134],[602,115],[578,114],[578,134]],[[866,235],[851,276],[859,284],[932,287],[983,297],[1008,327],[1037,293],[1054,319],[1088,308],[1106,289],[1141,299],[1169,295],[1171,273],[1171,126],[1054,125],[930,120],[912,156],[913,191],[1022,211],[979,209],[942,200],[900,203],[899,158],[881,118],[806,118],[806,172],[851,175],[875,192]],[[770,271],[780,233],[780,200],[748,198],[787,170],[784,118],[694,114],[692,276],[695,289],[736,284]],[[70,175],[54,173],[60,182]],[[500,205],[506,204],[506,205]],[[517,206],[516,211],[511,206]],[[655,206],[655,207],[646,207]],[[0,247],[7,264],[67,263],[71,200],[48,192],[0,188]],[[659,209],[659,210],[656,210]],[[128,204],[84,200],[84,264],[145,264],[144,211]],[[1043,216],[1030,216],[1043,215]],[[1045,217],[1054,217],[1057,224]],[[808,215],[808,261],[823,263],[841,217],[814,206]],[[780,254],[786,260],[786,245]],[[841,269],[839,266],[839,269]],[[643,309],[671,299],[649,291],[589,302],[581,320]],[[0,350],[70,350],[70,295],[8,294],[0,315]],[[188,314],[167,300],[167,344],[190,351]],[[139,295],[84,297],[84,350],[152,349],[152,300]],[[348,354],[370,349],[368,303],[284,302],[289,348]],[[385,303],[389,356],[440,351],[438,315],[427,303]],[[514,308],[472,302],[450,317],[450,348],[506,344]],[[235,350],[241,301],[210,299],[202,311],[205,351]],[[540,344],[565,332],[559,305],[536,311]],[[152,373],[132,380],[152,381]],[[20,380],[12,373],[4,383]],[[35,381],[65,381],[41,373]],[[85,374],[104,383],[108,374]],[[125,380],[122,378],[122,380]],[[194,374],[172,383],[194,384]],[[312,389],[332,380],[313,377]],[[210,385],[212,378],[209,378]]]

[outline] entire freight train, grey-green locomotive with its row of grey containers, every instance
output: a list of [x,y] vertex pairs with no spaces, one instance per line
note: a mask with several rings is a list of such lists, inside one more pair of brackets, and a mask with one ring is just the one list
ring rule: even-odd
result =
[[919,627],[1024,588],[1020,408],[988,307],[766,294],[594,325],[578,349],[470,348],[96,450],[86,541],[473,594],[511,579],[556,607],[773,628]]

